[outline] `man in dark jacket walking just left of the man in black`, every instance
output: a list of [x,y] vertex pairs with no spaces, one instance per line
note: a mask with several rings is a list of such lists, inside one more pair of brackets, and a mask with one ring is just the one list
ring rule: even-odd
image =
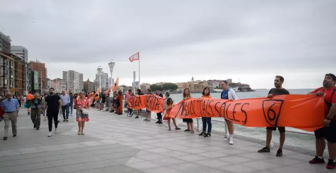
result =
[[41,113],[42,113],[42,99],[40,98],[39,93],[34,94],[34,99],[31,100],[31,119],[36,130],[40,130],[41,124]]

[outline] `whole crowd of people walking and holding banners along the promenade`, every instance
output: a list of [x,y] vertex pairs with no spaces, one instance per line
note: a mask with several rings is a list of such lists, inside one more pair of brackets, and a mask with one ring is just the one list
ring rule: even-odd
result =
[[[275,88],[271,89],[267,95],[268,98],[272,98],[276,95],[288,95],[290,94],[288,90],[283,88],[284,77],[282,76],[275,76],[274,79],[274,86]],[[310,160],[309,163],[311,164],[319,164],[325,163],[323,158],[323,152],[326,146],[325,139],[327,140],[328,146],[328,153],[329,159],[326,167],[328,169],[335,168],[335,158],[336,158],[336,76],[334,74],[326,74],[323,80],[323,86],[318,88],[308,94],[315,95],[316,97],[323,97],[325,101],[325,119],[324,119],[324,127],[314,131],[316,137],[316,156],[314,159]],[[227,100],[237,100],[238,97],[234,90],[228,87],[228,82],[223,80],[220,82],[220,86],[222,88],[222,92],[220,94],[221,99]],[[30,93],[31,94],[31,93]],[[137,95],[144,95],[141,90],[137,90]],[[152,94],[151,90],[148,89],[146,91],[147,95]],[[156,91],[155,93],[159,97],[163,98],[163,95]],[[134,93],[129,90],[128,93],[125,95],[125,99],[129,99],[131,96],[134,96]],[[12,124],[12,132],[13,137],[16,137],[17,130],[16,130],[16,120],[18,116],[18,111],[22,103],[26,105],[29,104],[29,108],[31,109],[31,119],[34,124],[34,128],[36,130],[40,129],[40,115],[43,114],[48,120],[48,128],[49,134],[48,136],[52,135],[52,120],[54,121],[54,133],[57,133],[57,127],[59,123],[59,114],[62,112],[63,114],[63,122],[68,122],[69,113],[72,116],[72,109],[76,109],[76,121],[78,122],[78,135],[84,135],[84,127],[85,122],[89,121],[89,108],[94,107],[98,110],[115,112],[118,115],[123,114],[123,106],[127,108],[127,117],[133,116],[133,109],[127,106],[127,103],[123,105],[123,93],[122,91],[114,91],[113,96],[109,97],[109,93],[88,93],[85,94],[84,92],[80,92],[78,95],[72,94],[72,92],[66,94],[62,92],[62,94],[54,94],[54,89],[49,89],[49,94],[45,94],[44,96],[40,97],[38,93],[35,93],[33,98],[27,99],[26,97],[17,97],[13,96],[12,93],[6,94],[6,100],[2,101],[1,106],[4,116],[1,118],[5,121],[5,134],[4,140],[8,138],[8,128],[9,122]],[[190,94],[190,90],[185,88],[182,93],[182,98],[192,99],[193,97]],[[210,89],[208,87],[204,88],[202,92],[202,98],[211,98]],[[23,101],[23,102],[21,102]],[[169,110],[174,106],[174,101],[170,97],[170,92],[165,92],[164,98],[164,108],[163,112],[157,113],[157,124],[162,124],[163,121],[167,121],[168,129],[171,131],[171,119],[175,126],[176,130],[180,130],[177,126],[176,120],[174,118],[167,118],[165,116],[166,110]],[[70,109],[70,110],[69,110]],[[61,111],[62,110],[62,111]],[[137,114],[135,119],[139,118],[139,114],[141,110],[137,110]],[[151,111],[146,109],[146,118],[144,121],[150,122],[151,121]],[[230,120],[225,120],[229,130],[229,137],[228,143],[230,145],[234,145],[234,124]],[[193,120],[192,119],[183,119],[183,122],[187,124],[187,129],[185,132],[194,133],[193,130]],[[200,136],[210,137],[211,136],[211,117],[202,117],[203,129],[202,132],[199,134]],[[272,131],[278,129],[280,133],[279,139],[279,148],[276,152],[276,156],[283,155],[283,146],[285,142],[285,127],[267,127],[266,128],[266,146],[259,150],[259,153],[269,153],[270,152],[270,141],[272,138]]]

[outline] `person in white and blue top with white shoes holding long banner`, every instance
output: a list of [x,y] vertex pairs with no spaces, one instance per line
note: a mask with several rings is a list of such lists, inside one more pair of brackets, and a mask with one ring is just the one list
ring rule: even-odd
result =
[[[236,92],[234,90],[231,90],[228,88],[228,81],[226,80],[222,80],[220,81],[220,86],[221,88],[223,89],[223,91],[220,93],[220,98],[221,99],[229,99],[229,100],[237,100],[238,97],[236,95]],[[233,132],[234,132],[234,125],[233,125],[233,122],[225,119],[225,122],[227,123],[228,125],[228,130],[229,130],[229,144],[230,145],[233,145],[234,144],[234,141],[233,141]]]

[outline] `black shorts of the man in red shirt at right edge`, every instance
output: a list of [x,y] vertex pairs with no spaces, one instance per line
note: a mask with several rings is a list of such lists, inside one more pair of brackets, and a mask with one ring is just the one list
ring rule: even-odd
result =
[[322,127],[314,131],[315,138],[319,139],[324,137],[330,143],[336,142],[336,121],[331,120],[329,127]]

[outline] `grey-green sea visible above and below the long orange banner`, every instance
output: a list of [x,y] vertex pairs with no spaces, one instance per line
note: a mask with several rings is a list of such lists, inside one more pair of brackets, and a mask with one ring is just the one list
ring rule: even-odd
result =
[[[290,94],[307,94],[314,89],[290,89],[288,90]],[[255,90],[255,92],[236,92],[239,99],[246,98],[258,98],[258,97],[266,97],[269,90]],[[164,93],[163,93],[164,94]],[[201,93],[191,94],[193,98],[199,98],[202,96]],[[220,98],[220,93],[211,93],[212,98]],[[174,103],[178,103],[182,100],[182,94],[171,94]],[[217,120],[224,121],[222,118],[214,118]],[[178,121],[179,123],[183,123],[182,120]],[[196,126],[196,121],[194,120],[194,126]],[[200,127],[202,130],[202,120],[200,120]],[[212,121],[212,129],[217,131],[225,132],[225,124],[222,122],[214,122]],[[315,136],[313,132],[307,132],[295,128],[286,127],[286,140],[285,146],[294,146],[300,147],[304,149],[315,150]],[[289,132],[293,131],[293,132]],[[298,133],[294,133],[298,132]],[[266,129],[258,128],[258,127],[244,127],[240,125],[235,125],[235,134],[240,136],[246,136],[256,139],[262,139],[266,141]],[[272,142],[279,142],[279,133],[278,131],[273,131]],[[285,148],[284,148],[285,149]]]

